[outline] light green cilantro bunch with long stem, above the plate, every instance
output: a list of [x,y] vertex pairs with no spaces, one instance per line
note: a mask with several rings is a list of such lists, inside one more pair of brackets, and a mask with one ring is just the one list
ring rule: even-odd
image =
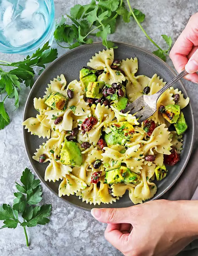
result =
[[[112,41],[107,40],[107,37],[115,32],[120,17],[126,23],[129,23],[132,17],[145,36],[158,48],[153,53],[164,61],[172,44],[171,37],[166,35],[161,35],[168,44],[166,50],[153,41],[141,25],[145,14],[132,8],[129,0],[92,0],[88,5],[75,5],[70,9],[70,15],[65,16],[73,22],[72,25],[68,25],[66,17],[62,16],[54,32],[57,44],[63,48],[73,49],[82,44],[93,43],[93,36],[101,38],[106,48],[116,48]],[[68,46],[62,46],[61,42],[68,43]]]

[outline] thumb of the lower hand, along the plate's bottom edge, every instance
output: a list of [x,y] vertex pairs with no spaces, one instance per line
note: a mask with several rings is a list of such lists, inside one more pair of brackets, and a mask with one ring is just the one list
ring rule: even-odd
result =
[[101,208],[92,209],[92,216],[104,223],[130,223],[132,219],[132,207],[128,208]]

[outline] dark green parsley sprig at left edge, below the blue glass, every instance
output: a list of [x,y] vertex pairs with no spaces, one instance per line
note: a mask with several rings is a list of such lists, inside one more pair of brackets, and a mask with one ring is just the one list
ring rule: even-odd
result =
[[57,58],[57,49],[50,49],[49,43],[45,43],[42,48],[38,48],[32,56],[27,56],[23,61],[7,62],[0,60],[0,66],[11,67],[9,72],[0,68],[0,96],[5,98],[0,102],[0,130],[10,123],[10,118],[5,110],[4,102],[7,98],[15,99],[15,109],[19,107],[19,91],[24,82],[26,87],[34,84],[34,67],[41,67],[39,74],[45,69],[45,64]]

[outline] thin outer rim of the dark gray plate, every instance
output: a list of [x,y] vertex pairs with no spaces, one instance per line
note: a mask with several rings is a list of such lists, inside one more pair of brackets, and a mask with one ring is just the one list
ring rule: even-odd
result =
[[[163,61],[162,59],[160,59],[158,56],[156,56],[156,55],[153,54],[152,52],[147,51],[147,50],[145,50],[145,49],[143,49],[143,48],[141,48],[141,47],[132,45],[132,44],[130,44],[130,43],[123,43],[123,42],[121,42],[121,41],[113,41],[113,43],[115,43],[115,45],[116,45],[116,43],[118,43],[118,44],[121,44],[121,45],[126,45],[126,46],[128,46],[128,47],[133,47],[133,48],[136,48],[136,49],[138,49],[138,50],[140,50],[140,51],[142,51],[142,52],[145,52],[146,54],[149,54],[149,55],[153,56],[154,58],[158,59],[163,65],[165,65],[166,68],[168,68],[168,69],[170,70],[170,72],[171,72],[173,75],[176,75],[176,72],[175,72],[165,61]],[[101,41],[99,41],[99,42],[94,42],[94,43],[92,43],[91,45],[93,45],[93,44],[94,44],[94,45],[97,45],[97,44],[98,44],[98,45],[101,45],[102,42],[101,42]],[[86,45],[81,45],[81,46],[79,46],[79,47],[76,47],[76,48],[74,48],[74,49],[72,49],[72,50],[68,50],[68,51],[65,52],[63,55],[61,55],[61,56],[59,56],[57,59],[55,59],[52,63],[50,63],[50,65],[48,65],[48,67],[42,72],[42,74],[38,76],[38,78],[35,80],[34,85],[32,86],[32,88],[31,88],[31,90],[30,90],[30,92],[29,92],[29,94],[28,94],[28,97],[27,97],[27,99],[26,99],[26,103],[25,103],[25,107],[24,107],[24,111],[23,111],[23,122],[25,121],[25,115],[26,115],[26,113],[27,113],[27,111],[28,111],[27,105],[28,105],[29,100],[30,100],[30,98],[31,98],[31,96],[32,96],[32,93],[33,93],[33,91],[34,91],[34,88],[37,86],[37,83],[38,83],[39,80],[45,75],[45,73],[48,71],[48,69],[50,69],[56,62],[58,62],[61,58],[64,58],[66,55],[70,54],[71,52],[75,52],[75,51],[76,51],[77,49],[79,49],[79,48],[86,48],[86,47],[89,47],[89,46],[90,46],[90,44],[86,44]],[[187,92],[186,92],[186,88],[185,88],[183,82],[182,82],[181,80],[179,80],[179,83],[181,83],[181,85],[182,85],[182,87],[183,87],[183,89],[182,89],[183,93],[185,93],[185,94],[187,95],[187,97],[188,97],[188,94],[187,94]],[[154,199],[153,199],[153,198],[149,199],[149,201],[151,201],[151,200],[156,200],[156,199],[162,197],[162,196],[175,184],[175,182],[177,182],[177,180],[179,179],[179,177],[182,175],[182,173],[183,173],[183,171],[184,171],[186,165],[188,164],[188,161],[189,161],[189,159],[190,159],[190,156],[191,156],[191,153],[192,153],[192,149],[193,149],[194,139],[195,139],[195,119],[194,119],[194,114],[193,114],[193,109],[192,109],[191,102],[189,102],[189,107],[190,107],[190,112],[191,112],[191,116],[192,116],[192,127],[191,127],[191,128],[192,128],[192,142],[191,142],[191,144],[190,144],[190,150],[188,151],[188,156],[187,156],[187,158],[186,158],[186,160],[185,160],[185,162],[184,162],[183,168],[182,168],[183,170],[180,171],[180,173],[179,173],[177,179],[175,179],[172,183],[170,183],[170,184],[166,187],[166,189],[165,189],[163,192],[161,192],[161,193],[160,193],[159,195],[157,195],[155,198],[153,197]],[[76,208],[79,208],[79,209],[81,209],[81,210],[83,209],[83,210],[85,210],[85,211],[89,211],[89,212],[90,212],[91,209],[87,209],[87,208],[84,208],[84,207],[82,207],[82,206],[78,206],[78,205],[76,205],[76,204],[74,204],[74,203],[72,203],[72,202],[69,202],[68,200],[66,200],[66,199],[63,198],[63,197],[59,197],[58,194],[57,194],[57,192],[55,192],[53,189],[51,189],[51,188],[48,186],[47,182],[43,179],[43,177],[41,177],[41,175],[39,174],[39,172],[33,167],[33,160],[32,160],[32,157],[30,157],[29,154],[28,154],[28,148],[27,148],[27,144],[26,144],[26,140],[25,140],[25,127],[24,127],[24,125],[23,125],[23,144],[24,144],[25,151],[26,151],[26,155],[27,155],[27,157],[28,157],[28,160],[29,160],[29,162],[30,162],[30,165],[31,165],[32,169],[34,170],[36,176],[37,176],[37,177],[39,178],[39,180],[41,181],[41,183],[42,183],[45,187],[47,187],[52,193],[54,193],[54,194],[56,195],[56,197],[60,198],[60,199],[63,200],[64,202],[66,202],[66,204],[69,204],[69,205],[72,205],[72,206],[74,206],[74,207],[76,207]],[[147,200],[146,200],[145,202],[147,202]],[[91,204],[91,205],[93,205],[93,204]],[[93,205],[93,208],[94,208],[94,205]]]

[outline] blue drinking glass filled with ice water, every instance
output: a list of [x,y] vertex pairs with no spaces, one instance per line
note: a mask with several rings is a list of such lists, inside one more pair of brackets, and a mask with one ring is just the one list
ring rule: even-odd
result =
[[0,52],[29,54],[53,41],[53,0],[0,0]]

